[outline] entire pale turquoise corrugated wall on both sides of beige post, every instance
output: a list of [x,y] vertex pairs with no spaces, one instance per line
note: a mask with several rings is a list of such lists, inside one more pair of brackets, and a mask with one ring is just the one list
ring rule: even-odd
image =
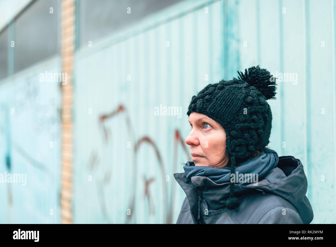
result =
[[[78,50],[74,222],[176,222],[185,194],[173,173],[183,172],[180,163],[190,154],[184,139],[191,97],[259,64],[297,73],[297,83],[278,82],[277,99],[268,100],[269,147],[302,161],[312,223],[335,223],[335,6],[330,0],[183,1]],[[13,196],[12,206],[1,204],[1,223],[59,223],[60,91],[55,83],[36,84],[46,68],[58,72],[59,60],[0,85],[0,158],[10,153],[11,172],[27,171],[26,187],[0,185],[0,200]],[[160,105],[181,107],[181,118],[155,116]],[[13,119],[10,108],[23,110]]]

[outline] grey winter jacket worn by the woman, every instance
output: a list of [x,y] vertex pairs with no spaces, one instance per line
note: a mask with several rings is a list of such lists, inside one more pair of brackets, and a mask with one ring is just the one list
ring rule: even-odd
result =
[[235,184],[240,205],[236,210],[225,207],[230,182],[217,184],[206,176],[185,177],[175,173],[184,199],[177,224],[309,224],[313,211],[306,197],[307,177],[299,159],[279,157],[276,168],[253,184]]

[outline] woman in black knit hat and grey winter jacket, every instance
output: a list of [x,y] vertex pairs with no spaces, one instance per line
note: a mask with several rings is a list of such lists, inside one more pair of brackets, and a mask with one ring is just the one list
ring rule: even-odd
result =
[[304,223],[313,219],[303,165],[267,148],[275,78],[259,66],[209,84],[187,115],[192,162],[174,177],[186,194],[176,223]]

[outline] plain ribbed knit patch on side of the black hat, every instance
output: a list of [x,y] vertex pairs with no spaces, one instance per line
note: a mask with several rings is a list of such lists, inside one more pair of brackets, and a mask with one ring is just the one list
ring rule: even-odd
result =
[[222,123],[230,122],[235,116],[246,92],[243,87],[229,86],[221,91],[208,108],[208,112]]

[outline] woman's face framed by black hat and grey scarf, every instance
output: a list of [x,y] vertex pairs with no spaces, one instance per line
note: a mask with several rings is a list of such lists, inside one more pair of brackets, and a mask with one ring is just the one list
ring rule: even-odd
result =
[[[226,148],[226,133],[223,127],[208,116],[192,112],[189,115],[192,129],[185,138],[185,143],[190,146],[195,166],[213,166],[217,164]],[[218,166],[225,166],[224,164]]]

